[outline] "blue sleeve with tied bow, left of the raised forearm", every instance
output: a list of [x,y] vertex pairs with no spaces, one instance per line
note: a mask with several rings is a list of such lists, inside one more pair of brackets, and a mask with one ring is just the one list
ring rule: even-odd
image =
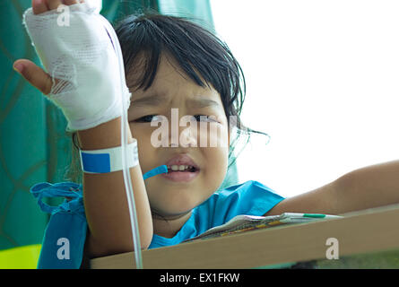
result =
[[[82,185],[73,182],[43,182],[30,188],[41,210],[50,219],[40,249],[38,269],[79,269],[82,265],[87,222]],[[58,206],[43,203],[43,197],[68,197]]]

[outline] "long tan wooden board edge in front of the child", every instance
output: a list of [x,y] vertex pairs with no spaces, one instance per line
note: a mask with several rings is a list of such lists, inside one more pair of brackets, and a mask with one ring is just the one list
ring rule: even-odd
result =
[[[343,214],[344,218],[253,230],[166,248],[145,250],[143,267],[152,269],[254,268],[326,259],[338,240],[339,257],[399,250],[399,205]],[[340,259],[332,259],[339,261]],[[329,261],[332,261],[329,260]],[[94,258],[90,268],[135,268],[134,253]]]

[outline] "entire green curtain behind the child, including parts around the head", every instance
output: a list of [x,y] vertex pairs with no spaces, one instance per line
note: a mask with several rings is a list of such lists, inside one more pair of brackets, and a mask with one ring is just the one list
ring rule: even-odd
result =
[[[72,140],[65,133],[64,115],[13,71],[13,62],[19,58],[41,66],[22,25],[22,13],[30,3],[0,1],[0,249],[41,244],[48,214],[39,210],[30,187],[43,181],[71,179],[66,171],[72,160]],[[208,1],[104,0],[101,14],[114,24],[148,8],[195,18],[213,30]],[[79,177],[75,182],[81,183]],[[233,165],[221,187],[235,183],[237,168]],[[48,204],[60,200],[51,199]]]

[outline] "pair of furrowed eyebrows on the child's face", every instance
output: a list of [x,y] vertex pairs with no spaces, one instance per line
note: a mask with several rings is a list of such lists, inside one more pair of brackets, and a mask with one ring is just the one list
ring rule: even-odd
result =
[[[160,94],[153,94],[148,97],[143,97],[138,100],[132,100],[133,107],[157,107],[165,103],[168,97]],[[221,104],[215,100],[209,99],[190,99],[187,100],[187,106],[191,108],[207,108],[207,107],[221,107]]]

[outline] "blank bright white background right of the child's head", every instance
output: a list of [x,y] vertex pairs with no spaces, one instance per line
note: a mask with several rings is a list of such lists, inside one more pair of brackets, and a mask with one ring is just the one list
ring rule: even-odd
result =
[[399,158],[399,2],[211,0],[256,135],[239,181],[282,196]]

